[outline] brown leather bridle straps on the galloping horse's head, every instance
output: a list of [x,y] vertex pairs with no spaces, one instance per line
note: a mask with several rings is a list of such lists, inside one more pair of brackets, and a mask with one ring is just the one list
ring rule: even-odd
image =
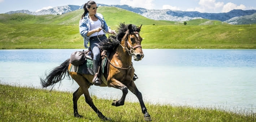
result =
[[[131,32],[131,33],[136,33],[136,34],[139,34],[139,32]],[[131,44],[128,42],[128,35],[129,35],[130,33],[129,33],[129,31],[127,30],[127,32],[126,32],[126,34],[125,34],[125,38],[123,38],[122,39],[122,41],[123,40],[125,40],[125,46],[123,47],[121,44],[121,46],[128,52],[128,54],[130,55],[130,56],[133,56],[134,55],[134,53],[132,53],[131,51],[133,51],[135,48],[137,48],[137,47],[140,47],[140,48],[142,48],[142,46],[141,45],[136,45],[136,46],[131,46]],[[129,50],[129,48],[127,47],[127,45],[130,47],[130,50]]]

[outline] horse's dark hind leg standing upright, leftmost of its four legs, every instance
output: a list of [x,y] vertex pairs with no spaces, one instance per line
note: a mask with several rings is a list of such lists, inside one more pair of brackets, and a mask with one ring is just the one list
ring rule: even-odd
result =
[[79,117],[79,118],[83,117],[83,116],[79,115],[79,113],[77,111],[77,100],[80,98],[80,96],[82,94],[83,94],[83,91],[80,87],[73,93],[74,117]]

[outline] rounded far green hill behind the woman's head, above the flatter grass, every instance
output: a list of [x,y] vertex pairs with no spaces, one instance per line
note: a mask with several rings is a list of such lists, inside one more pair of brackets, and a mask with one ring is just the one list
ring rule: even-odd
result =
[[[109,26],[115,26],[118,23],[132,23],[132,24],[144,24],[144,25],[170,25],[168,22],[161,22],[151,20],[142,15],[120,9],[116,7],[100,7],[97,10],[98,13],[104,15],[104,19],[107,20]],[[78,24],[83,14],[83,9],[71,11],[62,15],[28,15],[23,13],[18,14],[0,14],[0,23],[5,24],[57,24],[57,25],[69,25]]]

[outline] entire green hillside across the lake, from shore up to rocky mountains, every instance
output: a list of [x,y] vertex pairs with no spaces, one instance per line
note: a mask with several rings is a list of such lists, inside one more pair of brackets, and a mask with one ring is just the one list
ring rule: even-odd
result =
[[[147,19],[115,7],[100,7],[98,12],[112,29],[123,22],[143,24],[143,48],[256,48],[255,24],[196,19],[187,21],[185,26],[181,22]],[[82,13],[83,10],[63,15],[0,14],[0,48],[84,48],[78,28]]]

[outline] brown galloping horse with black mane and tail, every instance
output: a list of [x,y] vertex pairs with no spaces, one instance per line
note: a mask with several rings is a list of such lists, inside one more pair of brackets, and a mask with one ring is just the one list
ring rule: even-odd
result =
[[[142,38],[139,35],[140,27],[136,27],[133,24],[125,25],[121,23],[118,28],[118,34],[116,36],[110,36],[107,40],[101,42],[100,48],[103,50],[109,50],[108,65],[104,69],[103,77],[105,82],[100,86],[109,86],[122,90],[122,97],[120,100],[114,100],[112,105],[120,106],[125,103],[125,97],[128,93],[128,89],[136,95],[139,99],[142,113],[144,114],[145,121],[151,121],[151,117],[147,112],[147,108],[143,102],[142,94],[137,89],[133,81],[134,68],[131,62],[132,56],[135,61],[140,61],[144,57],[142,52],[141,42]],[[41,80],[43,88],[53,86],[59,81],[63,80],[65,76],[69,75],[74,79],[79,88],[73,93],[73,107],[74,116],[83,117],[78,113],[77,100],[84,94],[85,101],[90,107],[97,113],[98,117],[103,120],[108,120],[94,105],[88,88],[92,85],[92,79],[94,75],[79,74],[77,72],[69,72],[71,64],[69,59],[63,62],[60,66],[53,69],[49,74],[45,74],[46,78]],[[66,75],[67,74],[67,75]]]

